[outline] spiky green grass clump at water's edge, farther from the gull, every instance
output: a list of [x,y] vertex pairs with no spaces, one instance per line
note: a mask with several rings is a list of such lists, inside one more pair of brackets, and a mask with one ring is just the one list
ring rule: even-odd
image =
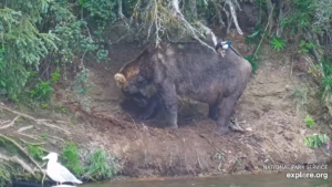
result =
[[86,167],[86,178],[103,180],[113,177],[116,174],[115,160],[105,150],[96,149],[89,157]]

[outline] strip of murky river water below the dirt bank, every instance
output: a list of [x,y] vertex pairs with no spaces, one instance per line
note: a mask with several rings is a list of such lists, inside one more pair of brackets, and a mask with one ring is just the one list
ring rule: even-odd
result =
[[[295,172],[294,172],[295,173]],[[303,173],[303,172],[302,172]],[[308,172],[307,172],[308,173]],[[317,173],[314,173],[317,174]],[[288,178],[287,173],[229,175],[221,177],[147,180],[120,180],[86,184],[82,187],[332,187],[332,170],[320,172],[321,178]],[[288,174],[290,175],[290,174]],[[291,177],[291,176],[290,176]]]

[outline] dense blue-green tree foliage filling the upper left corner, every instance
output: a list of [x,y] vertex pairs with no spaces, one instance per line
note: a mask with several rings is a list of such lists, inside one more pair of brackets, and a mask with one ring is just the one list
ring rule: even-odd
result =
[[[108,2],[114,8],[115,1],[107,1],[107,6]],[[13,0],[7,1],[6,8],[1,7],[4,3],[0,3],[0,95],[19,101],[24,97],[21,94],[28,93],[33,100],[48,100],[52,92],[50,83],[55,83],[61,77],[59,69],[55,69],[50,82],[30,79],[27,84],[31,72],[39,72],[41,60],[48,62],[49,59],[59,56],[55,63],[63,64],[72,62],[75,55],[98,49],[84,32],[86,21],[77,19],[68,3],[72,2]],[[105,51],[101,51],[98,60],[106,55]],[[54,63],[49,65],[53,66]]]

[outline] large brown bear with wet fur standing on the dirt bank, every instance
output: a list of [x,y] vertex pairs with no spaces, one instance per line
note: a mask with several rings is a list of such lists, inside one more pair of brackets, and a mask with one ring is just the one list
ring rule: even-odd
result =
[[[179,46],[181,44],[183,46]],[[169,127],[177,127],[177,95],[207,103],[209,116],[226,134],[234,107],[250,80],[251,65],[231,50],[225,58],[198,42],[160,43],[146,48],[121,70],[123,92],[135,93],[147,84],[157,87]]]

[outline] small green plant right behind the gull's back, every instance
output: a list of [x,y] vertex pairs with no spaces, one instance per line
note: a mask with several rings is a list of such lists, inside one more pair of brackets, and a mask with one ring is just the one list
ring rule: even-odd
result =
[[81,176],[84,172],[83,166],[80,162],[79,148],[72,143],[68,142],[61,152],[61,158],[63,159],[63,165],[73,172],[74,175]]

